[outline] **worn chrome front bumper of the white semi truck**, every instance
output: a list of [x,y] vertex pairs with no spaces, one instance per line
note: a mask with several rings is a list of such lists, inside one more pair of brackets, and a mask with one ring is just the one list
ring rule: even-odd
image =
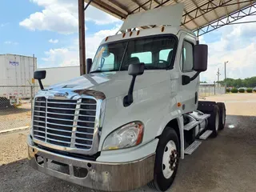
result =
[[[154,178],[155,154],[134,162],[94,162],[42,150],[29,138],[28,155],[35,170],[94,190],[134,190]],[[53,169],[51,164],[58,165],[60,170]]]

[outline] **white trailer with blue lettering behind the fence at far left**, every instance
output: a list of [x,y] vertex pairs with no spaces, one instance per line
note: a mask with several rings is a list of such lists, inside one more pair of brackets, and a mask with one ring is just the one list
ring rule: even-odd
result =
[[0,67],[0,106],[18,105],[20,99],[30,98],[37,58],[0,54]]

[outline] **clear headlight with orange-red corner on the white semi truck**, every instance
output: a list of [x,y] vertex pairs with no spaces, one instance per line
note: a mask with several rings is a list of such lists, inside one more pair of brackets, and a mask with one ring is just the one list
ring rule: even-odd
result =
[[109,134],[102,150],[118,150],[138,146],[142,142],[143,132],[142,122],[130,122]]

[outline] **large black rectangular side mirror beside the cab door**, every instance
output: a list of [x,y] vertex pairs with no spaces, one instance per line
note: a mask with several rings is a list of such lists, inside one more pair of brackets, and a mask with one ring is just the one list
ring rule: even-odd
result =
[[202,72],[207,70],[208,64],[208,46],[196,45],[194,46],[194,67],[193,70]]

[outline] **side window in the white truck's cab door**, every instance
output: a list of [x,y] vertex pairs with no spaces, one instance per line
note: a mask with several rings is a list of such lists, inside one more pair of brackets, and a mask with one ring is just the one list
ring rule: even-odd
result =
[[191,71],[193,70],[194,63],[194,45],[191,42],[183,42],[182,46],[182,71]]

